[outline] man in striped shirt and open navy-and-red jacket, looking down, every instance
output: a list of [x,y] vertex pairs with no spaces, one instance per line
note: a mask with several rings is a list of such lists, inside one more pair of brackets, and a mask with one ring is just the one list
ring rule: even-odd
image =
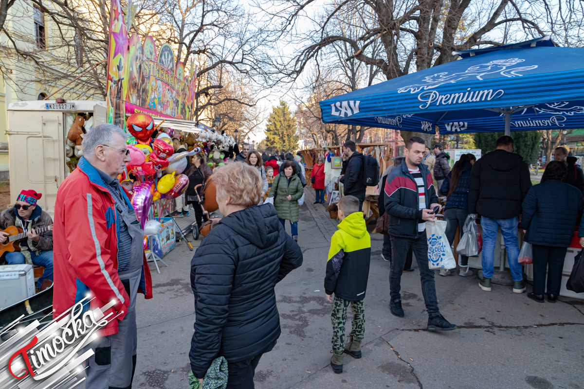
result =
[[384,188],[385,212],[391,215],[390,311],[404,317],[401,305],[401,275],[410,248],[416,256],[422,282],[422,294],[428,313],[430,331],[454,330],[438,309],[434,271],[428,266],[426,220],[433,220],[432,208],[439,206],[432,174],[422,164],[425,145],[422,138],[412,136],[404,149],[405,159],[387,177]]

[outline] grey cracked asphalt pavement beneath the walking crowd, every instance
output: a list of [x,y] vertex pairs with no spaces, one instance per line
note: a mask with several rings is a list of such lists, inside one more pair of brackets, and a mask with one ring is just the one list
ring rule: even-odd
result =
[[[346,356],[343,373],[334,374],[332,303],[325,300],[323,281],[337,222],[323,205],[312,204],[308,188],[305,200],[298,223],[304,264],[276,286],[282,334],[259,362],[256,388],[584,388],[584,300],[541,304],[508,286],[482,292],[476,276],[436,275],[440,310],[458,329],[429,332],[417,264],[402,276],[405,317],[390,314],[390,264],[381,258],[380,234],[371,235],[363,358]],[[193,253],[180,242],[164,258],[169,267],[161,274],[152,270],[154,298],[138,297],[134,387],[188,387]]]

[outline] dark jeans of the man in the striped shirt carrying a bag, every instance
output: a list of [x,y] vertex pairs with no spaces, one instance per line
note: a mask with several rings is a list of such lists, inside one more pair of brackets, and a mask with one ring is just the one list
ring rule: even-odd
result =
[[413,250],[418,261],[420,271],[420,281],[422,282],[422,295],[426,303],[426,311],[429,316],[440,313],[438,310],[438,299],[436,297],[436,285],[434,284],[434,271],[428,267],[428,244],[426,232],[418,233],[418,237],[398,238],[391,237],[391,270],[390,270],[390,296],[391,302],[401,302],[401,275],[404,271],[404,264],[408,250]]

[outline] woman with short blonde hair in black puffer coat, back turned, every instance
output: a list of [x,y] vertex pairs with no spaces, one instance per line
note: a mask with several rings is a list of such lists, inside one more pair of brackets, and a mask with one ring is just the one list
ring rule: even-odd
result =
[[253,388],[263,353],[280,336],[274,286],[299,267],[303,255],[272,204],[256,205],[262,180],[254,167],[217,169],[217,203],[223,219],[191,261],[196,323],[189,353],[200,381],[213,359],[227,359],[227,388]]

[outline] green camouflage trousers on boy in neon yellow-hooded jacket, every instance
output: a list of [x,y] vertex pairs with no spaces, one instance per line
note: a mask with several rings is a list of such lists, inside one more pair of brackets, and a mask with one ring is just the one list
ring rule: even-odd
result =
[[347,322],[347,308],[351,306],[353,320],[351,321],[351,335],[356,341],[363,340],[365,335],[365,306],[363,300],[348,301],[336,297],[332,303],[332,351],[340,355],[345,349],[345,323]]

